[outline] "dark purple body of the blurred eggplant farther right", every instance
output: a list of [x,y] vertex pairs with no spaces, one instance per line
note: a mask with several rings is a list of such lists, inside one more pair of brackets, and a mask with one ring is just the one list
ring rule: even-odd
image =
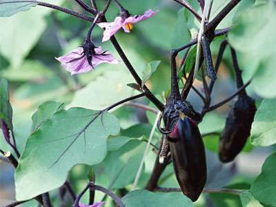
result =
[[242,151],[250,136],[251,125],[257,108],[255,100],[247,95],[239,96],[226,119],[226,126],[219,139],[219,159],[233,161]]

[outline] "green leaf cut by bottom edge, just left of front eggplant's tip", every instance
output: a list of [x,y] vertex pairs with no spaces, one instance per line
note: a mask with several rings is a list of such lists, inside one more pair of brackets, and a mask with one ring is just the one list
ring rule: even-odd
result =
[[123,197],[126,207],[192,207],[193,202],[182,193],[152,193],[148,190],[134,190]]

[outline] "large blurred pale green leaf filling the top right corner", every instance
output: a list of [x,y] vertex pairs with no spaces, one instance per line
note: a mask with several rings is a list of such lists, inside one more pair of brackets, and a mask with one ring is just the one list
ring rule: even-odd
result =
[[256,4],[237,19],[237,26],[228,34],[231,46],[238,51],[242,69],[255,75],[252,83],[255,92],[266,98],[276,97],[275,9],[274,1]]

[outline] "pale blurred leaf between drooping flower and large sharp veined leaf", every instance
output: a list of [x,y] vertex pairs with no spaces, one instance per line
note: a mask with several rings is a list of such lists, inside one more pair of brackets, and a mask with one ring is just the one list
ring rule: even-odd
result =
[[[114,69],[114,68],[112,68]],[[103,110],[112,103],[130,97],[133,89],[127,86],[132,77],[127,70],[107,70],[102,76],[78,90],[69,107]]]

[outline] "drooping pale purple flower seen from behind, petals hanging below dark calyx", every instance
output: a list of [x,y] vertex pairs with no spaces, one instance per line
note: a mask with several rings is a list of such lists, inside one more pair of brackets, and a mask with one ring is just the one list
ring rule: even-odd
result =
[[91,64],[83,52],[83,47],[72,50],[61,57],[56,57],[56,59],[61,62],[61,66],[71,72],[71,75],[88,72],[101,63],[119,63],[110,52],[103,52],[101,47],[95,48],[93,53],[95,54],[92,54]]

